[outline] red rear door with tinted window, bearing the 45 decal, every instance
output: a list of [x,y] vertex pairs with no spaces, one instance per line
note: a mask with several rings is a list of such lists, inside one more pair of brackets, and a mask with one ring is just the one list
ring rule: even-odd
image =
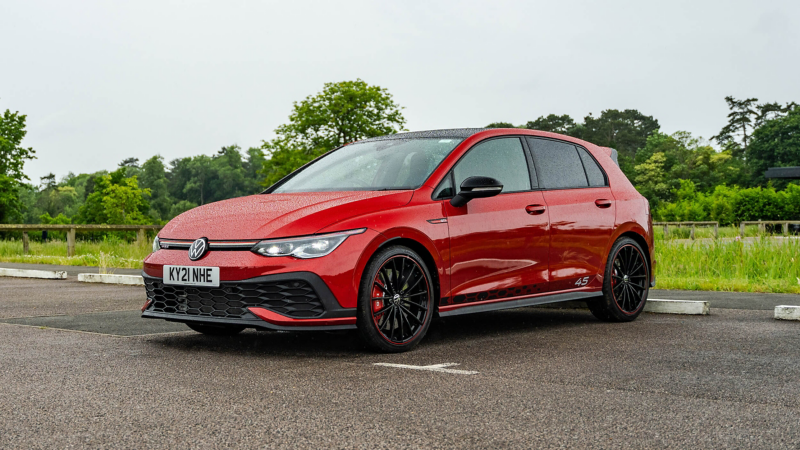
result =
[[608,178],[586,149],[528,138],[550,213],[550,290],[598,286],[616,211]]

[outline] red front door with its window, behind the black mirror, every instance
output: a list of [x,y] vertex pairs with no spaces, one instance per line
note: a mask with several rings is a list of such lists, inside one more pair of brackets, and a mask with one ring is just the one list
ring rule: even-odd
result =
[[548,215],[522,138],[476,144],[451,171],[455,192],[471,176],[496,178],[503,190],[462,207],[445,202],[452,265],[451,295],[442,304],[546,292]]

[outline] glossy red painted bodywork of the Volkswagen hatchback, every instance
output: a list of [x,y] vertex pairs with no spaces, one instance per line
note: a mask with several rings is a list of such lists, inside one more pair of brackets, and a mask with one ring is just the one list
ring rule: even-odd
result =
[[[467,150],[484,139],[504,135],[541,136],[581,145],[602,165],[609,187],[501,193],[474,199],[460,208],[453,207],[449,200],[431,199],[435,187]],[[602,200],[603,207],[596,204],[597,200]],[[442,218],[447,222],[429,222]],[[223,281],[313,272],[328,285],[342,307],[355,308],[367,263],[390,242],[403,242],[427,253],[441,299],[533,285],[541,289],[541,294],[535,295],[599,291],[611,245],[626,233],[644,244],[651,267],[654,265],[647,201],[612,161],[610,149],[555,133],[520,129],[486,130],[465,139],[413,191],[236,198],[181,214],[164,227],[159,237],[261,240],[358,228],[367,231],[348,237],[333,253],[321,258],[264,257],[249,251],[211,250],[202,259],[191,261],[185,250],[164,249],[145,259],[144,272],[161,278],[165,264],[218,266]],[[584,277],[589,277],[588,284],[576,286],[575,280]],[[442,310],[460,306],[447,305]],[[259,317],[268,322],[282,321],[282,325],[297,320],[272,314],[262,313]],[[302,325],[306,325],[305,321]]]

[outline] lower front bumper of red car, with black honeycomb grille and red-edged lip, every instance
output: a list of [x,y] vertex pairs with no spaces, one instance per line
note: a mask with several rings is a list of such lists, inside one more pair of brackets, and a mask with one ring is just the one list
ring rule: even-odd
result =
[[218,288],[164,285],[162,278],[142,275],[146,318],[272,330],[355,328],[356,309],[342,308],[311,272],[222,281]]

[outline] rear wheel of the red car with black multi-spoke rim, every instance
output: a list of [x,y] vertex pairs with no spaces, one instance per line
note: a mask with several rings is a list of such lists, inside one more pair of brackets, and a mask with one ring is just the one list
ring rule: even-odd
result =
[[650,290],[650,264],[642,247],[621,237],[611,247],[603,276],[603,296],[588,302],[604,322],[631,322],[639,317]]

